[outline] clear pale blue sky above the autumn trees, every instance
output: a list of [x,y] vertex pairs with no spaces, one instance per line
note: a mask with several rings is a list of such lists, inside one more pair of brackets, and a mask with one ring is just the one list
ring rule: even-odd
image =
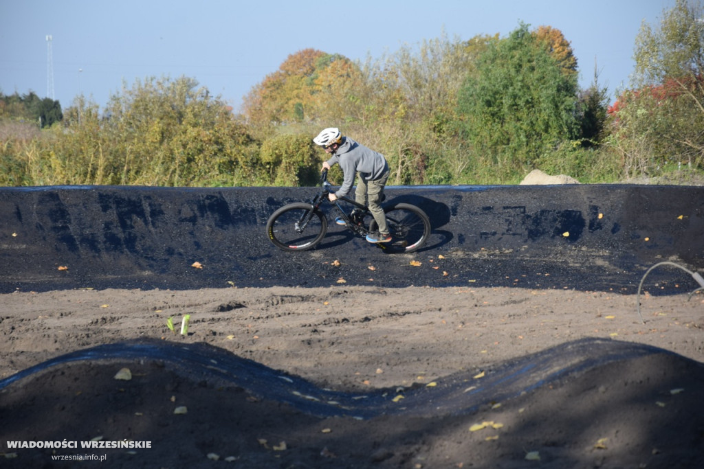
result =
[[[353,60],[445,35],[507,36],[520,22],[562,31],[580,85],[613,97],[629,84],[636,34],[657,26],[675,0],[0,0],[0,91],[47,96],[51,34],[54,98],[68,108],[84,94],[106,105],[122,83],[196,79],[235,110],[291,53],[313,48]],[[612,100],[613,101],[613,100]]]

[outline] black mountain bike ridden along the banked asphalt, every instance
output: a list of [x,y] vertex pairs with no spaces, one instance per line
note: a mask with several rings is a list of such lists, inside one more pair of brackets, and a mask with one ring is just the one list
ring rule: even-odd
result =
[[[305,251],[315,248],[327,234],[327,218],[322,203],[328,200],[332,184],[327,181],[327,169],[320,176],[321,190],[310,203],[296,202],[284,205],[269,217],[266,232],[269,240],[284,251]],[[340,201],[352,205],[346,212]],[[369,209],[348,197],[339,197],[332,205],[337,208],[346,229],[356,236],[365,237],[378,230],[377,222]],[[430,221],[419,207],[408,203],[382,205],[386,214],[392,240],[377,243],[388,252],[413,252],[423,247],[430,236]],[[341,222],[340,222],[341,223]]]

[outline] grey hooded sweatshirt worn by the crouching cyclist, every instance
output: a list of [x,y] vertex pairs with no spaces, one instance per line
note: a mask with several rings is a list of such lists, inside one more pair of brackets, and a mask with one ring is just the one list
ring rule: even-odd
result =
[[389,164],[384,155],[360,145],[349,137],[344,137],[335,154],[327,160],[330,166],[335,163],[339,163],[344,174],[342,185],[335,193],[337,197],[347,195],[351,191],[356,173],[359,173],[364,181],[375,181],[389,171]]

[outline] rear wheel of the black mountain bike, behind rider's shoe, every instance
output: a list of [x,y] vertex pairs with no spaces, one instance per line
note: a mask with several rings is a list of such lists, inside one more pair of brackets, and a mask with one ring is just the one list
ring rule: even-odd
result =
[[[391,243],[379,243],[379,247],[391,252],[413,252],[423,247],[430,236],[430,220],[425,212],[406,203],[384,207],[384,212],[394,239]],[[369,229],[377,231],[377,222],[372,220]]]

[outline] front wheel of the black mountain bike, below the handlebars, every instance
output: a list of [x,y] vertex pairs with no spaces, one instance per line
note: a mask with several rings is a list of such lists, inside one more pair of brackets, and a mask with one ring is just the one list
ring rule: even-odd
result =
[[327,233],[327,218],[307,203],[284,205],[266,223],[269,240],[284,251],[315,248]]

